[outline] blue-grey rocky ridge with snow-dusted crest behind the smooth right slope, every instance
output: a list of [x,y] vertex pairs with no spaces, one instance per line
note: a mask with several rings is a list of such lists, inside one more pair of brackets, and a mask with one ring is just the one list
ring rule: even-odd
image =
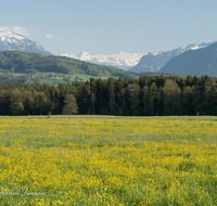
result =
[[180,55],[184,51],[202,49],[202,48],[210,46],[210,44],[213,44],[216,41],[210,42],[210,43],[201,43],[199,46],[196,43],[189,44],[184,49],[178,48],[178,49],[175,49],[173,51],[167,51],[167,52],[161,51],[159,53],[156,53],[156,54],[149,53],[149,54],[143,55],[141,57],[140,62],[137,65],[135,65],[133,67],[129,68],[128,70],[129,72],[133,72],[133,73],[157,72],[169,60],[171,60],[175,56]]

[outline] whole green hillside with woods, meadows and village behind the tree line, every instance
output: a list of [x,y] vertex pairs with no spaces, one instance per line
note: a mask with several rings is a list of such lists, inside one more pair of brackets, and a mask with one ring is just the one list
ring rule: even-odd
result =
[[108,77],[139,78],[141,76],[177,76],[180,73],[130,73],[112,66],[97,65],[65,56],[44,56],[21,51],[0,51],[0,82],[60,83]]

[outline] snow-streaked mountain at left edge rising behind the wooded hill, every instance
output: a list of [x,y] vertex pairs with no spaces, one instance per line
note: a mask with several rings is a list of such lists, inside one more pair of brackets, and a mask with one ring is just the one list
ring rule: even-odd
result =
[[22,35],[12,30],[0,30],[0,51],[13,50],[52,55],[37,42],[34,42]]

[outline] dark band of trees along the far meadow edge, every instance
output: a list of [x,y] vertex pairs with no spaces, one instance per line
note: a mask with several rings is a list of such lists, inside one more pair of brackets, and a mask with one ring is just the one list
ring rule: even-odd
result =
[[54,88],[1,83],[0,115],[217,115],[217,79],[143,76],[90,78]]

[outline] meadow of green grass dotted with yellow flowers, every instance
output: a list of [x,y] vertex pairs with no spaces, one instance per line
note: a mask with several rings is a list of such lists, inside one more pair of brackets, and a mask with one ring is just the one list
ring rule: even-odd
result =
[[217,205],[217,119],[0,118],[0,205]]

